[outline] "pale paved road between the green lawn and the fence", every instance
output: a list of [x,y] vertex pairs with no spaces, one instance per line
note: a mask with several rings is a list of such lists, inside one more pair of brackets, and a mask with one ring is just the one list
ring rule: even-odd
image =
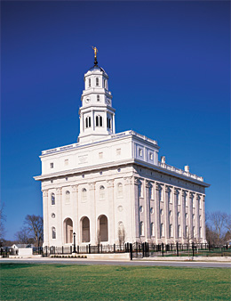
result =
[[89,260],[89,259],[50,259],[50,258],[39,258],[39,259],[12,259],[2,258],[0,263],[8,264],[102,264],[102,265],[143,265],[143,266],[184,266],[184,267],[222,267],[230,268],[230,263],[221,262],[166,262],[166,261],[119,261],[119,260]]

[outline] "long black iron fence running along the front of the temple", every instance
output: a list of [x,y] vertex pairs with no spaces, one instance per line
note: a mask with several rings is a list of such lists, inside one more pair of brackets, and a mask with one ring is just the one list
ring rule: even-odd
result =
[[[85,245],[85,246],[63,246],[63,247],[34,247],[33,255],[53,256],[53,255],[86,255],[86,254],[110,254],[110,253],[130,253],[131,259],[143,257],[166,257],[166,256],[231,256],[231,248],[228,245],[211,245],[208,243],[187,243],[187,244],[153,244],[135,242],[121,245]],[[13,248],[0,248],[0,255],[18,255],[18,250]]]

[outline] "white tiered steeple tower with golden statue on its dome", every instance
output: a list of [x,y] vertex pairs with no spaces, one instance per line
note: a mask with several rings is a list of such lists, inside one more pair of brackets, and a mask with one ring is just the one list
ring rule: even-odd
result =
[[94,66],[84,74],[84,91],[79,109],[80,134],[78,142],[89,143],[115,134],[115,109],[108,91],[108,74],[98,66],[96,47]]

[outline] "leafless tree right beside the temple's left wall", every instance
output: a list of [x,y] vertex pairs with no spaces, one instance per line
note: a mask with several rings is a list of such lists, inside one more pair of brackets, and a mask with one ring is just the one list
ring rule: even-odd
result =
[[44,221],[42,216],[26,216],[24,227],[28,236],[36,240],[37,247],[42,245],[44,240]]

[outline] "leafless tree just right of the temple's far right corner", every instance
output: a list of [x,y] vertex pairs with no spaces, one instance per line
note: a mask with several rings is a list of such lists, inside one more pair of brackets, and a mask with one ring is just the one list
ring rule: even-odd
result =
[[227,214],[220,211],[214,211],[208,214],[208,221],[211,226],[211,230],[216,234],[217,244],[222,242],[221,240],[224,233],[226,218]]

